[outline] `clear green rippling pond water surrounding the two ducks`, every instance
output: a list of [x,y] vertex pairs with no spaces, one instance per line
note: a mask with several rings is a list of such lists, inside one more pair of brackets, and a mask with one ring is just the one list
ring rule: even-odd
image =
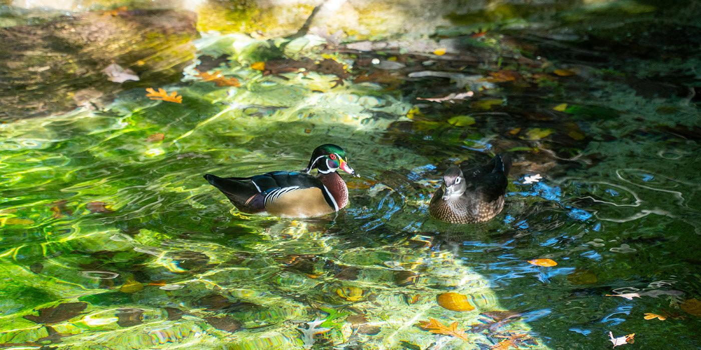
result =
[[[492,3],[365,36],[266,34],[212,4],[178,39],[191,53],[124,64],[138,83],[93,74],[98,102],[2,92],[32,111],[0,113],[0,345],[701,349],[697,3]],[[4,10],[4,38],[53,20]],[[32,99],[76,94],[56,79]],[[325,143],[360,174],[337,214],[241,214],[202,177],[299,170]],[[514,160],[500,215],[428,216],[444,169],[496,153]]]

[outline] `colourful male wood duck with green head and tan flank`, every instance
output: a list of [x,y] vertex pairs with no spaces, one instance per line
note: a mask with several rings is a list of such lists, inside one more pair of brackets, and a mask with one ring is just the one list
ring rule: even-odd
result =
[[[312,169],[317,169],[317,176],[309,174]],[[338,169],[355,176],[343,148],[325,144],[314,150],[302,172],[229,178],[206,174],[205,179],[244,213],[311,218],[339,211],[348,204],[348,188],[336,173]]]

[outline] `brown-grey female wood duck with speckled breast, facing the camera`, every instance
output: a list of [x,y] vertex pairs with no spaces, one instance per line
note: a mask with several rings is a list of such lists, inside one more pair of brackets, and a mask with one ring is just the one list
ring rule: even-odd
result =
[[511,162],[496,155],[486,165],[449,167],[443,184],[431,198],[431,216],[448,223],[482,223],[504,208],[504,195]]

